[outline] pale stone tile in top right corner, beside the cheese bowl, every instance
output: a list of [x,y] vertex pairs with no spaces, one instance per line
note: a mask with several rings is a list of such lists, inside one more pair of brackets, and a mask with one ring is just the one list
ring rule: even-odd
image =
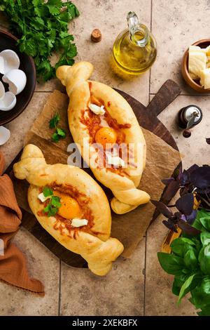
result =
[[188,46],[209,38],[209,0],[153,0],[152,32],[158,58],[151,70],[151,93],[166,79],[174,79],[184,94],[194,94],[181,77],[181,59]]

